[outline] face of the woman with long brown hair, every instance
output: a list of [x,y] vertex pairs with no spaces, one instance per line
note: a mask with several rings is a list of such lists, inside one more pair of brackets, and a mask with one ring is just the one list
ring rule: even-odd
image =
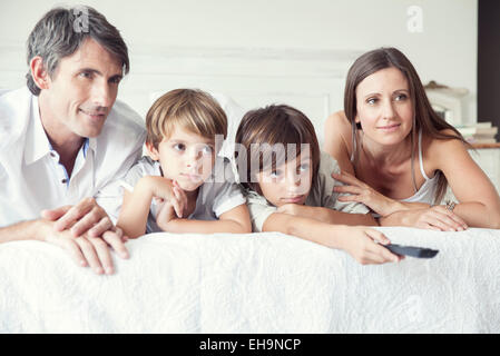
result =
[[398,68],[381,69],[364,78],[355,93],[355,120],[372,141],[393,146],[408,137],[413,106],[408,80]]

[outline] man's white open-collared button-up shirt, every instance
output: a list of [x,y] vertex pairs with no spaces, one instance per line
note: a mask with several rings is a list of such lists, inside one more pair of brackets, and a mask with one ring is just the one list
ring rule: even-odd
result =
[[141,157],[145,136],[139,115],[117,100],[100,135],[85,140],[68,177],[43,130],[38,97],[26,87],[0,93],[0,227],[86,197],[116,220],[121,201],[102,190]]

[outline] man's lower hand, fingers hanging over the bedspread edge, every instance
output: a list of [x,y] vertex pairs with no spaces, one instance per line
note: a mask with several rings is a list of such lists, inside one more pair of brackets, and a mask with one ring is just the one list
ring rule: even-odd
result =
[[112,259],[109,246],[112,247],[118,255],[126,259],[128,251],[124,246],[127,238],[122,235],[120,228],[107,230],[101,237],[90,237],[88,235],[75,237],[70,230],[57,231],[55,225],[57,222],[41,219],[39,220],[40,240],[57,245],[67,250],[75,263],[79,266],[90,266],[98,275],[114,273]]

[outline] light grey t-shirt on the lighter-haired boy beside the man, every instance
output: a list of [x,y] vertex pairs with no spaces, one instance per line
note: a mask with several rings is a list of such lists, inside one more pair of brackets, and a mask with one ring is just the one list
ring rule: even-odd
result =
[[[146,176],[161,177],[159,162],[151,160],[149,157],[143,157],[130,168],[122,179],[121,186],[133,190],[139,179]],[[196,208],[188,219],[217,220],[224,212],[246,202],[242,189],[235,182],[228,159],[223,157],[216,157],[210,177],[198,189]],[[158,208],[159,204],[153,199],[146,227],[147,233],[161,231],[156,224]]]

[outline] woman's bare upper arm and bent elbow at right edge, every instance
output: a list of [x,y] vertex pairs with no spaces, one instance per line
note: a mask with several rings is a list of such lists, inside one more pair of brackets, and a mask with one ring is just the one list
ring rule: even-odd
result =
[[429,154],[459,200],[453,212],[469,226],[500,229],[500,197],[465,146],[455,139],[434,140]]

